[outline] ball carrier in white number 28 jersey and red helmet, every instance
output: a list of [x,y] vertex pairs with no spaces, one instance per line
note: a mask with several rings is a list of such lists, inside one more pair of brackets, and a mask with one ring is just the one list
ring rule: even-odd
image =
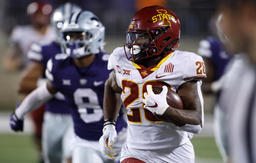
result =
[[[111,148],[119,111],[115,94],[120,93],[128,117],[120,162],[194,162],[190,139],[204,123],[200,87],[206,72],[201,56],[171,49],[179,46],[180,22],[166,7],[139,10],[126,33],[127,43],[113,51],[108,63],[113,72],[105,83],[102,154],[109,159],[115,156]],[[163,86],[163,91],[155,95],[152,85]],[[167,87],[181,97],[183,110],[167,104]]]

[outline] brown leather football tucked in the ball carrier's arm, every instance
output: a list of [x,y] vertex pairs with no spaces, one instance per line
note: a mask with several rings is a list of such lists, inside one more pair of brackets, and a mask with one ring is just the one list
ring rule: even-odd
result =
[[[171,90],[170,88],[167,88],[167,89],[168,89],[167,95],[166,95],[167,104],[170,107],[173,107],[176,109],[183,109],[183,104],[182,104],[182,101],[181,101],[181,98],[179,97],[179,95],[176,92],[174,92],[173,90]],[[162,86],[152,86],[152,90],[155,94],[159,94],[162,92],[163,88],[162,88]],[[154,114],[154,116],[156,116],[158,119],[160,119],[164,122],[177,124],[177,122],[169,121],[161,115]]]

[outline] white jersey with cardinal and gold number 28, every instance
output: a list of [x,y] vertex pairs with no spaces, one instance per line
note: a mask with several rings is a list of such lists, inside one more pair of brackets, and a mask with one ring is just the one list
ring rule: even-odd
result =
[[[129,53],[129,49],[126,50]],[[110,55],[108,69],[115,71],[117,84],[123,89],[121,99],[127,109],[128,147],[162,149],[189,141],[192,133],[157,119],[152,112],[143,108],[142,99],[148,84],[166,85],[175,92],[179,85],[189,80],[200,80],[201,84],[201,79],[206,77],[201,56],[191,52],[170,51],[157,65],[145,68],[127,60],[124,48],[119,47]],[[203,114],[203,100],[200,100]]]

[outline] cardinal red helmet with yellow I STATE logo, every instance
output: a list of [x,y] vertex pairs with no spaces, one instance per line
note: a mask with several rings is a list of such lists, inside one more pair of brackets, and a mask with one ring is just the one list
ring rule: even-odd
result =
[[173,11],[163,6],[147,6],[139,10],[126,30],[124,48],[130,61],[165,54],[179,46],[180,22]]

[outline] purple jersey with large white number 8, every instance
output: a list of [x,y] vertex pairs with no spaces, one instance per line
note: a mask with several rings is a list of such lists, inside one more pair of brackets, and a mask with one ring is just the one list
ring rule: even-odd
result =
[[[58,54],[47,63],[47,78],[65,96],[76,135],[86,140],[99,140],[102,136],[104,84],[111,72],[107,70],[108,58],[109,54],[100,52],[89,66],[78,67],[73,58]],[[117,132],[126,125],[119,112]]]

